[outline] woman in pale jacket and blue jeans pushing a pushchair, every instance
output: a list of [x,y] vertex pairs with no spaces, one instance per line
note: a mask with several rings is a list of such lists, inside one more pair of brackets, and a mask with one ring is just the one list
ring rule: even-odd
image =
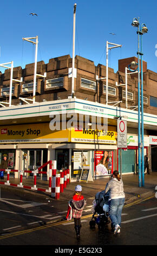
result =
[[117,170],[114,170],[112,177],[113,179],[108,182],[104,192],[109,192],[109,217],[112,221],[114,234],[117,234],[120,233],[121,228],[121,213],[125,203],[125,193],[123,192],[123,181]]

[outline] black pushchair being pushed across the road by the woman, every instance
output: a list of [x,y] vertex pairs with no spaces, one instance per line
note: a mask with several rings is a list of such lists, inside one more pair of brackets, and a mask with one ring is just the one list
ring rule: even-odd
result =
[[108,195],[104,194],[104,190],[95,194],[96,205],[94,207],[94,214],[89,222],[90,228],[95,228],[97,224],[99,229],[103,229],[106,224],[110,223],[108,212],[103,209],[104,204],[108,205],[108,198]]

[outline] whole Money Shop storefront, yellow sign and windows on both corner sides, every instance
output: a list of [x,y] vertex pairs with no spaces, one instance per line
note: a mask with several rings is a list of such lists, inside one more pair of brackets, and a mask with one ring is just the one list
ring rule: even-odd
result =
[[69,168],[71,181],[80,178],[84,166],[89,166],[95,178],[113,172],[117,149],[115,126],[108,126],[106,131],[77,127],[52,131],[49,123],[40,123],[1,126],[0,131],[1,160],[6,155],[10,169],[34,170],[56,160],[58,171]]

